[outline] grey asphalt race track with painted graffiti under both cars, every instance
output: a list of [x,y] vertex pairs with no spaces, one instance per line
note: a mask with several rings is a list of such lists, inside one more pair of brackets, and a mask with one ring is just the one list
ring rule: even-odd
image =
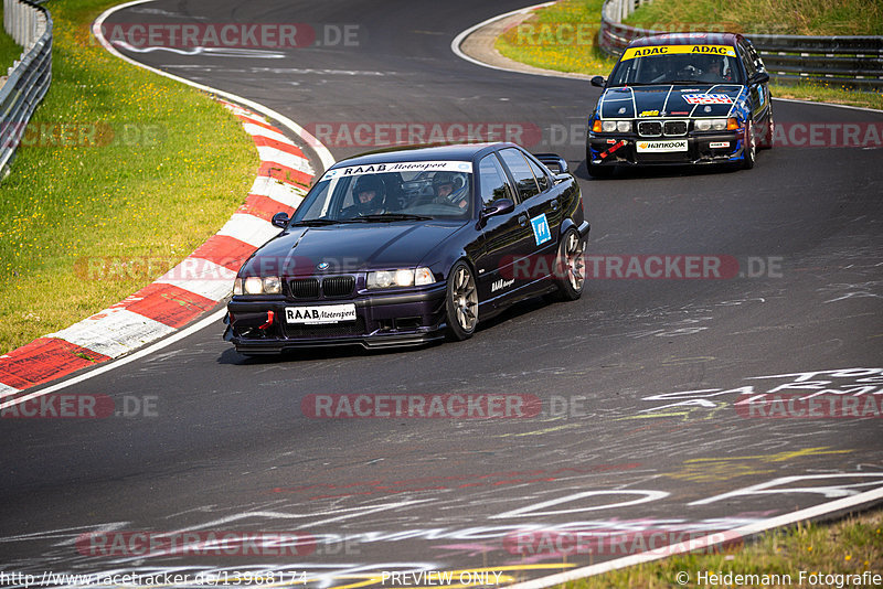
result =
[[[529,301],[467,342],[409,351],[246,360],[221,340],[223,325],[203,329],[63,390],[108,395],[132,417],[0,422],[3,570],[251,568],[339,587],[382,586],[372,576],[383,571],[487,567],[511,582],[614,559],[671,532],[695,537],[883,486],[879,418],[774,419],[736,405],[745,393],[833,389],[880,407],[881,150],[779,146],[751,171],[588,180],[581,131],[560,131],[584,129],[597,88],[450,52],[464,29],[521,6],[158,1],[109,22],[355,24],[354,46],[270,52],[280,57],[127,54],[308,129],[534,126],[543,139],[526,147],[562,153],[579,178],[591,255],[732,256],[742,276],[594,279],[577,302]],[[779,125],[883,122],[883,114],[774,104]],[[338,159],[369,149],[328,147]],[[353,393],[534,395],[543,413],[313,419],[301,410],[308,395]],[[643,536],[566,558],[549,546],[513,554],[507,540],[549,528]],[[301,533],[319,544],[297,557],[77,549],[79,534],[115,529]]]

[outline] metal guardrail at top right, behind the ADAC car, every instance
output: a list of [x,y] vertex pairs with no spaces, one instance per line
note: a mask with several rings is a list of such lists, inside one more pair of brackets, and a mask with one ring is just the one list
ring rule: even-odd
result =
[[[623,19],[651,1],[606,0],[598,33],[600,49],[618,56],[634,39],[684,32],[623,24]],[[760,54],[767,73],[778,83],[811,81],[869,90],[883,89],[883,36],[743,34]]]

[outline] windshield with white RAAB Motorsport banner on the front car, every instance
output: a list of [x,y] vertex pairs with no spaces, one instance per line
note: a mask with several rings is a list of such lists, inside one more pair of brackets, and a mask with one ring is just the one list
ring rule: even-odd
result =
[[[326,172],[291,219],[292,225],[466,219],[472,215],[469,162],[352,167]],[[414,169],[407,169],[407,167]],[[380,168],[380,173],[364,173]]]

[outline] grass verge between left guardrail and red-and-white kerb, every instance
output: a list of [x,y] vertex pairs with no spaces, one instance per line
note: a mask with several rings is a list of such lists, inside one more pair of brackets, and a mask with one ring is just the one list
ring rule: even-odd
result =
[[[156,279],[214,234],[254,181],[257,154],[234,117],[91,38],[116,3],[50,7],[52,86],[0,192],[0,353]],[[121,270],[85,270],[95,260]]]

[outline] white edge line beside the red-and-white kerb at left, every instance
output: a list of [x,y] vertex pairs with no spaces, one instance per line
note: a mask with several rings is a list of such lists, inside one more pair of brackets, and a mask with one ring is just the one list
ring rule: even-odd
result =
[[[182,84],[187,84],[188,86],[192,86],[192,87],[201,89],[203,92],[208,92],[208,93],[214,94],[216,96],[221,96],[223,98],[226,98],[227,100],[231,100],[231,101],[234,101],[234,103],[238,103],[238,104],[241,104],[243,106],[247,106],[248,108],[252,108],[253,110],[255,110],[257,113],[266,115],[270,119],[274,119],[274,120],[278,121],[279,124],[281,124],[283,126],[287,127],[291,132],[294,132],[297,137],[299,137],[301,140],[304,140],[304,142],[310,149],[312,149],[312,151],[316,153],[316,156],[319,158],[319,160],[322,162],[322,165],[326,169],[330,168],[334,163],[334,157],[331,156],[331,152],[328,150],[327,147],[325,147],[318,139],[316,139],[316,137],[310,135],[300,125],[298,125],[294,120],[289,119],[285,115],[281,115],[280,113],[277,113],[277,111],[273,110],[269,107],[266,107],[266,106],[264,106],[264,105],[262,105],[259,103],[255,103],[254,100],[249,100],[247,98],[244,98],[244,97],[238,96],[236,94],[228,93],[228,92],[225,92],[225,90],[221,90],[221,89],[217,89],[217,88],[212,88],[211,86],[205,86],[203,84],[198,84],[195,82],[192,82],[192,81],[189,81],[189,79],[185,79],[185,78],[169,74],[169,73],[163,72],[161,69],[158,69],[156,67],[151,67],[149,65],[136,62],[135,60],[132,60],[130,57],[127,57],[126,55],[124,55],[123,53],[117,51],[116,47],[114,47],[105,39],[104,34],[102,33],[102,26],[103,26],[104,22],[114,12],[117,12],[119,10],[123,10],[123,9],[126,9],[126,8],[129,8],[129,7],[134,7],[134,6],[137,6],[137,4],[146,4],[146,3],[152,2],[152,1],[155,1],[155,0],[134,0],[132,2],[126,2],[126,3],[118,4],[116,7],[111,7],[111,8],[107,9],[107,10],[105,10],[97,19],[95,19],[95,22],[92,24],[92,32],[95,35],[95,39],[97,39],[98,42],[102,44],[102,46],[106,51],[108,51],[110,54],[113,54],[116,57],[123,60],[124,62],[127,62],[127,63],[130,63],[131,65],[135,65],[136,67],[141,67],[141,68],[147,69],[149,72],[153,72],[155,74],[158,74],[160,76],[167,77],[169,79],[173,79],[175,82],[181,82]],[[181,331],[178,331],[177,333],[172,333],[172,334],[168,335],[166,339],[160,340],[160,341],[158,341],[158,342],[156,342],[156,343],[153,343],[151,345],[148,345],[147,347],[145,347],[145,349],[138,351],[138,352],[135,352],[135,353],[132,353],[130,355],[123,356],[123,357],[119,357],[119,358],[116,358],[116,360],[110,360],[106,364],[104,364],[102,366],[98,366],[95,370],[92,370],[92,371],[89,371],[89,372],[87,372],[85,374],[81,374],[79,376],[75,376],[73,378],[68,378],[66,381],[63,381],[61,383],[56,383],[54,385],[50,385],[50,386],[47,386],[45,388],[42,388],[40,390],[36,390],[34,393],[30,393],[30,394],[23,395],[21,397],[17,397],[14,399],[10,399],[10,400],[8,400],[6,403],[2,403],[2,404],[0,404],[0,409],[6,409],[7,407],[11,407],[13,405],[19,405],[19,404],[25,403],[25,401],[28,401],[30,399],[34,399],[34,398],[42,397],[44,395],[49,395],[49,394],[54,393],[56,390],[61,390],[61,389],[63,389],[65,387],[75,385],[77,383],[82,383],[83,381],[87,381],[88,378],[92,378],[94,376],[98,376],[99,374],[104,374],[104,373],[106,373],[108,371],[111,371],[114,368],[117,368],[119,366],[124,366],[124,365],[128,364],[129,362],[134,362],[135,360],[141,358],[141,357],[143,357],[143,356],[146,356],[148,354],[152,354],[153,352],[162,350],[163,347],[169,346],[169,345],[178,342],[179,340],[181,340],[183,338],[187,338],[188,335],[196,333],[198,331],[200,331],[200,330],[202,330],[204,328],[208,328],[209,325],[211,325],[213,323],[217,323],[221,319],[223,319],[225,313],[226,313],[226,309],[221,309],[216,313],[213,313],[213,314],[209,315],[208,318],[204,318],[201,321],[199,321],[196,323],[193,323],[192,325],[190,325],[188,328],[184,328]],[[15,388],[2,385],[2,388],[0,388],[0,393],[2,393],[0,398],[3,398],[6,396],[10,396],[10,395],[14,395],[15,392],[17,392]]]

